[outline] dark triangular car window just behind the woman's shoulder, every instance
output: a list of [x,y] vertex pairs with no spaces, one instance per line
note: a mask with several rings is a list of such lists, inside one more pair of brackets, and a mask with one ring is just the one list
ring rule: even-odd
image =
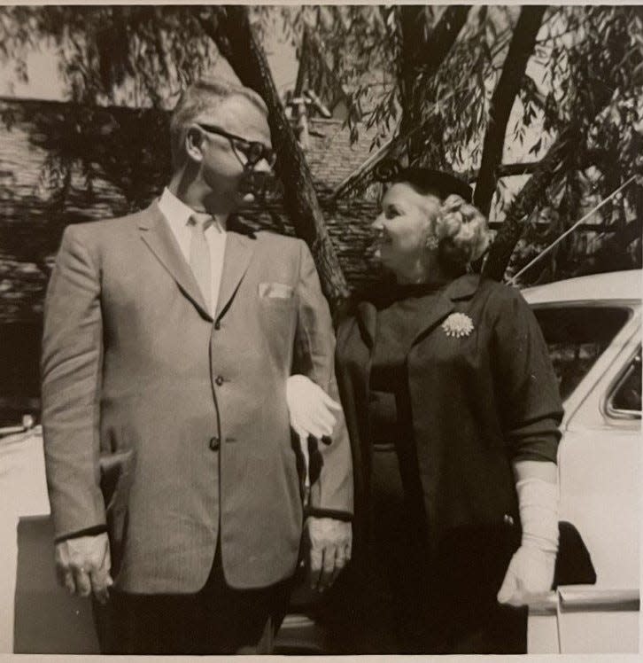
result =
[[541,306],[534,314],[543,331],[564,401],[611,343],[631,310],[613,306]]

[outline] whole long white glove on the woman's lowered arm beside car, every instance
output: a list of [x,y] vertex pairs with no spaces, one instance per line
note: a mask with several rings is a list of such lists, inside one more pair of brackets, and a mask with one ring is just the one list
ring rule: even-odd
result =
[[523,539],[509,562],[498,601],[525,605],[548,592],[554,581],[558,552],[558,487],[542,479],[524,479],[515,485]]

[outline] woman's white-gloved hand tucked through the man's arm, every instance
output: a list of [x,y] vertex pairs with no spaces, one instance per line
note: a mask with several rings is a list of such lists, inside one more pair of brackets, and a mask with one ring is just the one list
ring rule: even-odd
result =
[[337,421],[335,414],[342,406],[305,375],[291,375],[286,384],[286,401],[291,416],[291,426],[302,443],[308,435],[318,440],[333,433]]

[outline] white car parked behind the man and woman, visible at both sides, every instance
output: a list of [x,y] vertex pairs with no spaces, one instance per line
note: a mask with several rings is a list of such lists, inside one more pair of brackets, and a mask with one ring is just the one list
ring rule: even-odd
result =
[[[577,533],[562,545],[577,550],[564,551],[572,563],[561,580],[592,576],[584,580],[592,584],[559,585],[530,606],[528,651],[636,652],[641,272],[575,278],[523,294],[543,329],[565,405],[561,520]],[[0,651],[97,652],[89,602],[68,597],[55,585],[38,428],[0,439],[0,484],[0,493],[15,495],[16,504],[14,518],[0,520],[3,541],[9,542],[6,560],[0,559],[0,597],[9,599],[0,605]],[[575,560],[585,568],[574,566]],[[327,651],[323,629],[305,613],[286,618],[278,644],[284,653]]]

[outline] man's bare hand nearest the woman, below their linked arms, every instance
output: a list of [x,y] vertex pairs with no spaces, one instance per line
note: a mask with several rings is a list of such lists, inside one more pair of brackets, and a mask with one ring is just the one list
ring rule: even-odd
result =
[[312,589],[328,589],[339,572],[351,559],[351,523],[332,518],[306,520],[306,535],[310,546],[308,573]]

